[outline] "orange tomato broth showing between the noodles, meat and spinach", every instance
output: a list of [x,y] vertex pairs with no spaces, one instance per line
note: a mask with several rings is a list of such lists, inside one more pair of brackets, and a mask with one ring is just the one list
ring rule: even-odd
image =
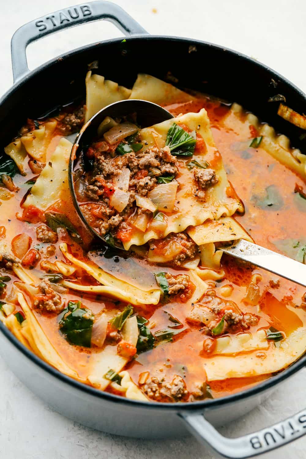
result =
[[[199,112],[202,107],[205,107],[208,112],[212,133],[223,157],[229,179],[245,204],[245,215],[237,216],[239,223],[245,227],[258,244],[275,251],[278,249],[273,244],[273,241],[286,238],[301,238],[304,234],[303,218],[301,218],[301,212],[294,202],[294,189],[297,183],[300,186],[304,186],[305,190],[305,183],[260,147],[256,149],[248,148],[246,150],[247,154],[245,153],[244,155],[242,155],[239,149],[233,148],[233,144],[251,139],[256,132],[249,128],[246,129],[242,118],[237,118],[234,129],[227,129],[223,123],[223,119],[228,113],[229,108],[221,105],[220,102],[211,101],[209,98],[199,98],[192,103],[173,104],[166,108],[174,116],[178,116],[179,113]],[[54,136],[47,152],[47,162],[60,137],[58,134]],[[14,177],[14,183],[20,187],[20,190],[9,201],[2,202],[1,215],[6,216],[9,224],[6,224],[4,218],[4,223],[1,224],[6,226],[6,241],[8,243],[11,243],[15,235],[25,232],[32,238],[31,247],[33,248],[38,244],[37,248],[41,252],[42,259],[44,259],[45,246],[48,244],[39,244],[36,240],[35,229],[39,224],[29,225],[15,217],[16,213],[22,213],[20,202],[22,196],[24,196],[30,186],[25,185],[25,181],[34,176],[29,170],[27,172],[28,175],[26,177],[22,177],[21,175]],[[276,185],[278,187],[279,194],[284,201],[284,206],[277,212],[270,208],[263,209],[256,207],[252,200],[253,196],[263,196],[263,190],[269,185]],[[53,210],[58,209],[60,211],[63,208],[65,208],[64,212],[68,218],[80,230],[83,239],[89,243],[90,235],[84,232],[79,226],[78,217],[72,202],[56,203]],[[290,218],[288,218],[289,215]],[[80,247],[70,239],[65,231],[60,230],[59,242],[56,244],[56,254],[53,257],[48,257],[50,262],[56,259],[63,259],[59,250],[59,243],[63,241],[71,245],[72,253],[75,256],[83,256]],[[156,268],[153,265],[145,263],[143,260],[139,260],[137,257],[119,258],[119,263],[115,259],[116,257],[105,258],[102,254],[95,257],[91,256],[90,258],[100,264],[107,272],[111,272],[124,280],[133,281],[134,285],[142,286],[142,288],[156,286],[153,275]],[[225,300],[235,302],[242,313],[256,315],[254,309],[256,307],[245,304],[242,299],[245,297],[251,275],[260,273],[262,276],[262,280],[258,284],[261,290],[260,320],[258,325],[250,327],[250,332],[273,325],[278,330],[282,330],[286,335],[289,335],[296,328],[305,325],[306,315],[305,319],[301,319],[300,317],[303,317],[303,314],[298,315],[295,311],[295,305],[300,305],[305,288],[303,289],[292,282],[280,279],[279,288],[272,289],[269,281],[276,279],[276,276],[264,270],[242,266],[237,261],[225,256],[222,258],[222,265],[226,273],[225,278],[220,282],[208,281],[209,288],[215,290],[217,296],[222,297],[220,287],[228,284],[233,285],[234,290],[232,295],[229,298],[225,298]],[[168,267],[167,271],[173,274],[179,274],[180,272],[186,273],[184,270],[174,270]],[[45,272],[34,269],[33,274],[41,277]],[[84,275],[80,270],[77,270],[72,278],[78,280],[78,283],[82,282],[87,285],[96,284],[92,278]],[[14,275],[11,275],[11,284],[16,280],[18,279]],[[9,291],[9,286],[7,290]],[[103,308],[120,310],[124,306],[123,303],[116,302],[115,305],[106,298],[85,293],[76,294],[73,291],[68,291],[67,294],[62,294],[61,297],[65,302],[81,299],[83,305],[89,307],[93,313],[98,313]],[[171,381],[174,375],[181,375],[184,377],[189,392],[195,390],[195,383],[206,381],[204,363],[207,357],[202,354],[203,341],[206,336],[202,334],[200,327],[192,327],[185,321],[190,308],[190,303],[175,301],[175,299],[172,303],[168,304],[158,304],[157,306],[147,306],[144,308],[134,307],[134,312],[139,312],[140,315],[150,319],[152,333],[167,327],[168,320],[165,311],[171,313],[184,325],[184,331],[175,336],[172,342],[160,344],[148,352],[141,353],[128,364],[127,369],[136,384],[138,384],[139,374],[145,371],[149,371],[151,376],[163,375],[169,381]],[[17,306],[17,310],[21,310],[21,308]],[[38,312],[35,312],[35,315],[58,353],[61,354],[62,358],[68,364],[69,362],[73,362],[73,367],[77,369],[80,378],[84,378],[87,374],[91,353],[96,351],[68,344],[59,332],[56,316],[48,316],[48,314]],[[221,397],[229,393],[241,391],[269,376],[262,375],[253,378],[233,378],[223,381],[212,381],[210,382],[210,386],[213,396]],[[111,392],[112,389],[108,388],[107,391]]]

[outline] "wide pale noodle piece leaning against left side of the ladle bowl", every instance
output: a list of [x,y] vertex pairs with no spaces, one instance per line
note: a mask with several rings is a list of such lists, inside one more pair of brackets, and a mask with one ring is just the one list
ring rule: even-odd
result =
[[31,193],[22,207],[33,205],[39,209],[46,210],[51,204],[62,200],[70,200],[68,186],[68,163],[72,143],[67,139],[61,139],[50,157],[49,164],[46,164],[39,178],[32,186]]

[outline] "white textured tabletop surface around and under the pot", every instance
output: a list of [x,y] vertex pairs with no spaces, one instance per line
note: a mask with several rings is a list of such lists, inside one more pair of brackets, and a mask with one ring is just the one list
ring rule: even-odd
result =
[[[76,2],[78,3],[78,1]],[[120,6],[151,34],[203,39],[256,57],[306,91],[305,0],[120,0]],[[10,0],[1,4],[0,93],[12,84],[10,39],[23,23],[71,6],[72,0]],[[5,5],[5,6],[4,6]],[[52,5],[52,6],[49,6]],[[157,13],[152,13],[152,8]],[[29,67],[72,48],[116,37],[106,22],[51,35],[28,49]],[[158,56],[156,56],[158,65]],[[273,396],[243,419],[222,427],[231,437],[272,424],[306,407],[306,370],[277,388]],[[185,459],[211,456],[191,437],[134,440],[77,425],[55,413],[28,391],[0,359],[0,458],[6,459]],[[306,437],[263,458],[305,459]]]

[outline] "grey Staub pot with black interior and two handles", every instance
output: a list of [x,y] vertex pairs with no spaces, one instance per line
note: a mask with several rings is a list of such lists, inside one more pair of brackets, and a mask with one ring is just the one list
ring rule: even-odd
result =
[[[29,43],[97,19],[113,22],[129,38],[124,43],[119,38],[88,45],[32,72],[28,70]],[[138,72],[164,78],[170,71],[179,78],[182,87],[241,103],[299,147],[298,128],[278,117],[273,104],[267,103],[277,91],[294,110],[305,112],[306,96],[293,84],[232,50],[203,41],[151,36],[119,6],[106,1],[72,6],[25,24],[12,38],[11,53],[14,85],[0,101],[2,146],[11,140],[26,118],[39,118],[56,106],[84,97],[87,64],[100,59],[111,62],[107,78],[127,87],[132,86]],[[139,59],[139,56],[158,59]],[[227,458],[252,457],[306,434],[306,410],[238,438],[223,437],[214,427],[224,420],[237,419],[261,403],[275,386],[306,364],[306,357],[238,394],[189,404],[166,404],[135,402],[74,381],[30,353],[1,323],[0,342],[3,358],[26,386],[60,413],[95,429],[131,437],[182,436],[190,431],[216,455]]]

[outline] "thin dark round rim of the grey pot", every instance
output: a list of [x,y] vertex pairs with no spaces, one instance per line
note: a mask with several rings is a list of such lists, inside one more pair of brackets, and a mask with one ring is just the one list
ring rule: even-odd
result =
[[[184,42],[190,45],[199,45],[199,46],[204,45],[204,46],[208,46],[210,48],[216,49],[216,50],[223,50],[229,53],[230,55],[239,57],[243,61],[252,62],[254,66],[261,67],[262,69],[268,71],[269,73],[271,73],[271,77],[276,77],[279,80],[282,80],[283,83],[291,86],[291,88],[293,88],[298,93],[298,95],[302,97],[306,102],[306,94],[302,90],[300,90],[297,86],[295,86],[295,84],[291,83],[287,78],[285,78],[278,72],[274,71],[272,68],[268,67],[267,65],[259,61],[256,61],[252,59],[251,57],[246,56],[243,53],[240,53],[239,51],[231,50],[230,48],[226,48],[221,45],[215,45],[213,43],[202,41],[202,40],[195,40],[195,39],[189,39],[189,38],[177,37],[177,36],[133,35],[130,37],[126,37],[127,41],[134,41],[134,40],[137,41],[139,39],[142,39],[142,40],[160,40],[162,39],[166,41]],[[122,41],[122,37],[99,41],[96,43],[92,43],[89,45],[79,47],[75,50],[63,53],[60,56],[50,59],[48,62],[45,62],[44,64],[40,65],[34,70],[29,71],[29,73],[26,74],[20,80],[17,80],[17,82],[14,83],[11,86],[11,88],[6,91],[4,95],[2,95],[2,97],[0,98],[0,104],[6,101],[6,99],[8,99],[15,90],[23,86],[23,84],[27,83],[28,80],[30,80],[33,76],[39,74],[41,71],[47,69],[48,67],[51,67],[51,65],[60,63],[64,59],[77,55],[81,52],[93,50],[99,46],[106,46],[106,45],[109,45],[112,43],[118,43],[121,41]],[[280,382],[287,379],[289,376],[295,374],[298,370],[300,370],[306,364],[306,355],[303,354],[302,356],[300,356],[300,358],[297,361],[295,361],[293,364],[291,364],[286,369],[280,371],[277,375],[270,376],[270,378],[268,378],[267,380],[264,380],[261,383],[256,384],[253,387],[250,387],[249,389],[245,389],[241,392],[237,392],[237,393],[228,395],[226,397],[206,399],[203,401],[195,401],[195,402],[182,402],[182,403],[161,403],[161,402],[150,402],[150,401],[143,402],[143,401],[132,400],[132,399],[128,399],[125,397],[121,397],[119,395],[111,394],[110,392],[100,391],[99,389],[95,389],[92,386],[81,383],[71,378],[70,376],[67,376],[61,373],[59,370],[53,368],[50,364],[47,364],[44,360],[40,359],[36,354],[29,351],[25,346],[22,345],[20,341],[17,340],[17,338],[11,333],[11,331],[8,328],[6,328],[5,325],[2,324],[2,322],[0,322],[0,331],[3,333],[4,336],[6,336],[6,338],[11,342],[11,344],[13,344],[21,353],[23,353],[34,364],[38,365],[41,369],[45,370],[51,376],[54,376],[58,380],[66,383],[67,385],[74,387],[75,389],[80,390],[81,392],[85,392],[91,396],[100,398],[102,400],[106,399],[110,402],[119,403],[119,404],[121,403],[127,406],[139,406],[139,407],[144,407],[144,408],[163,409],[163,410],[168,409],[168,410],[175,411],[175,412],[182,412],[182,411],[194,412],[194,411],[200,411],[203,409],[214,409],[214,408],[217,408],[223,405],[237,402],[239,400],[244,400],[254,395],[258,395],[261,392],[265,392],[269,388],[276,386]]]

